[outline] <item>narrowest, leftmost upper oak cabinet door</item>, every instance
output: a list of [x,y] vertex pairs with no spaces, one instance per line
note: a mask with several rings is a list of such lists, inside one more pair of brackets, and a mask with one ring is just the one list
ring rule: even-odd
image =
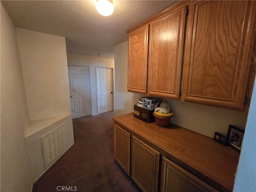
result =
[[148,24],[128,32],[128,91],[147,93]]

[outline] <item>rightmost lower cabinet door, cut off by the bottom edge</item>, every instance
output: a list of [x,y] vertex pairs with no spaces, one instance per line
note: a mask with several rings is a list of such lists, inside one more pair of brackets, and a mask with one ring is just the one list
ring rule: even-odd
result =
[[161,192],[217,192],[180,166],[162,157]]

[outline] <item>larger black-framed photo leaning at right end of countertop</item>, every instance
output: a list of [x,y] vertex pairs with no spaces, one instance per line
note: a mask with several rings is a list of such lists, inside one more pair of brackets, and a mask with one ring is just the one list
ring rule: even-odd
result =
[[236,150],[241,151],[244,138],[244,131],[229,125],[228,128],[228,145],[232,146]]

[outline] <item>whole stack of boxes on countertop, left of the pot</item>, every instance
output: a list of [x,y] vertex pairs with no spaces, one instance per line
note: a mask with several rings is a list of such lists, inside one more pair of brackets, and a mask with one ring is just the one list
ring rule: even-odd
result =
[[158,98],[140,97],[138,103],[134,105],[134,117],[151,123],[154,122],[154,106],[158,102]]

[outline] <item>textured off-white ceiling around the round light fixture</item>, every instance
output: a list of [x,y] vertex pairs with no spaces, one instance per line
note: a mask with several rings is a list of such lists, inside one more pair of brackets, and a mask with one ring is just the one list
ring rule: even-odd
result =
[[96,0],[1,0],[17,28],[66,38],[67,53],[114,58],[127,30],[178,1],[113,0],[114,13],[101,16]]

